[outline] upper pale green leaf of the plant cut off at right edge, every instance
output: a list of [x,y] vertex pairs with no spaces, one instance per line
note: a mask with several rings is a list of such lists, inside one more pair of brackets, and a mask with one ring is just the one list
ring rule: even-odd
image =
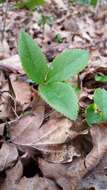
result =
[[98,109],[103,112],[104,118],[107,118],[107,91],[104,89],[96,89],[94,93],[94,103]]

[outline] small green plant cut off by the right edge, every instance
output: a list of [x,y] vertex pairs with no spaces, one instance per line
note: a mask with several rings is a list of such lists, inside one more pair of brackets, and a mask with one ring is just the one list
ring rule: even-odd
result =
[[96,89],[93,99],[94,103],[86,109],[86,120],[90,126],[107,121],[107,91],[100,88]]

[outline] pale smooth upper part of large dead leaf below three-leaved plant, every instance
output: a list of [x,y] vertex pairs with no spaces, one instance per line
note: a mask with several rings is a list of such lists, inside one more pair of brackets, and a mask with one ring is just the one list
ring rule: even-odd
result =
[[[71,124],[68,119],[54,119],[40,128],[41,122],[35,116],[25,116],[12,127],[11,136],[14,143],[34,148],[62,144],[70,137]],[[74,131],[71,135],[75,136],[77,133]]]

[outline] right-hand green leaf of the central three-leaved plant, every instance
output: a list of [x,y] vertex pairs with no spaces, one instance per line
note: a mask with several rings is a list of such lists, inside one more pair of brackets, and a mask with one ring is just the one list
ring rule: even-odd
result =
[[54,59],[47,76],[47,81],[65,81],[78,74],[87,65],[87,51],[81,49],[66,50]]

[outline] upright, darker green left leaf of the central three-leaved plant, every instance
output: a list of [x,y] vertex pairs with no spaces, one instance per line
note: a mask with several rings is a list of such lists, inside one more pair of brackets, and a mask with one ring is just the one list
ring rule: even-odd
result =
[[48,72],[47,59],[37,43],[25,32],[20,33],[18,51],[28,77],[37,84],[44,82]]

